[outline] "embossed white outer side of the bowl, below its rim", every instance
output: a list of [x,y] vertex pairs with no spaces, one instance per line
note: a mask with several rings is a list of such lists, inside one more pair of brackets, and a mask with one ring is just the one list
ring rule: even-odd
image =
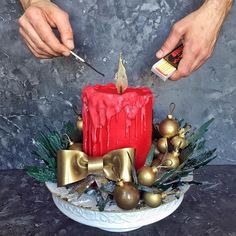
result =
[[[128,232],[164,219],[172,214],[183,201],[183,195],[168,204],[144,211],[99,212],[76,207],[65,202],[55,194],[52,195],[55,205],[66,216],[81,224],[99,228],[108,232]],[[150,218],[150,215],[153,217]]]

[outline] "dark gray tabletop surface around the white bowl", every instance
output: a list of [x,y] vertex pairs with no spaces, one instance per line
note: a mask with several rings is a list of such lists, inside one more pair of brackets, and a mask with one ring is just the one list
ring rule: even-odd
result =
[[207,166],[194,177],[203,184],[192,186],[171,216],[128,233],[109,233],[67,218],[44,184],[24,171],[1,171],[0,235],[235,236],[235,172],[236,166]]

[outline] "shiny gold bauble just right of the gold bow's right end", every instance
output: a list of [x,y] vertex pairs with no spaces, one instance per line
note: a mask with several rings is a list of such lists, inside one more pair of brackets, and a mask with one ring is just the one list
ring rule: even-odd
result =
[[156,181],[157,168],[143,166],[138,170],[138,182],[144,186],[151,186]]

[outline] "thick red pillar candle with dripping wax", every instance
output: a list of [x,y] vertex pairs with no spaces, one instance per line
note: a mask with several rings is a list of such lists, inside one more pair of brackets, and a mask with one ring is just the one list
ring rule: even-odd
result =
[[135,167],[145,163],[152,144],[153,94],[149,88],[114,84],[87,86],[82,91],[83,150],[102,156],[119,148],[136,149]]

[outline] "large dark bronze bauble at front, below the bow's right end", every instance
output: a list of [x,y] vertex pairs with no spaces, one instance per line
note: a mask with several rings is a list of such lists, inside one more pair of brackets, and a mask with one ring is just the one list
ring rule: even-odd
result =
[[132,183],[120,181],[114,190],[114,199],[118,207],[130,210],[138,205],[140,193]]

